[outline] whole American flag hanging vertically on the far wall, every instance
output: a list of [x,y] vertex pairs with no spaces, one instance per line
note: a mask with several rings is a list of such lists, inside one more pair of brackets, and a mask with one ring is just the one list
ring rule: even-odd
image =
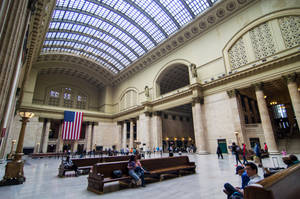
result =
[[82,112],[65,111],[62,127],[63,140],[78,140],[81,132]]

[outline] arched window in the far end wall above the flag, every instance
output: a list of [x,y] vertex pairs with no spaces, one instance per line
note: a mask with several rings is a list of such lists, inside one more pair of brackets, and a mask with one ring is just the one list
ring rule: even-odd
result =
[[71,87],[48,89],[45,104],[67,108],[87,109],[87,95]]

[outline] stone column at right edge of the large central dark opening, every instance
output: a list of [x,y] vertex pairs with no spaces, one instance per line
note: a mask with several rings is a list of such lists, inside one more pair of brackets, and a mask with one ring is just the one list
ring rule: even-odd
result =
[[201,104],[203,104],[202,97],[195,97],[193,99],[193,123],[195,132],[195,144],[197,147],[197,152],[199,154],[208,154],[206,148],[206,138],[205,138],[205,128],[203,125],[203,116],[201,110]]

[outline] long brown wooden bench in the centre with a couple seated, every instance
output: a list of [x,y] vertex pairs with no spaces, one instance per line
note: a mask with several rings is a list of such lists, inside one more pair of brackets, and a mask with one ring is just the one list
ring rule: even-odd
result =
[[[178,176],[186,172],[195,173],[196,168],[195,163],[190,162],[188,156],[144,159],[141,160],[141,164],[149,172],[145,174],[146,176],[160,180],[166,174]],[[105,183],[131,180],[127,165],[128,161],[95,164],[88,176],[87,190],[100,194],[103,193]],[[114,170],[121,170],[122,176],[114,178]]]

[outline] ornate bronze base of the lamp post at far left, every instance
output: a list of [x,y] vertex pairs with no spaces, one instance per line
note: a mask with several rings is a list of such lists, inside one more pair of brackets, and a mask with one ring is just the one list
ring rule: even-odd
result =
[[23,168],[24,162],[22,160],[8,162],[3,180],[0,181],[0,186],[23,184],[26,180]]

